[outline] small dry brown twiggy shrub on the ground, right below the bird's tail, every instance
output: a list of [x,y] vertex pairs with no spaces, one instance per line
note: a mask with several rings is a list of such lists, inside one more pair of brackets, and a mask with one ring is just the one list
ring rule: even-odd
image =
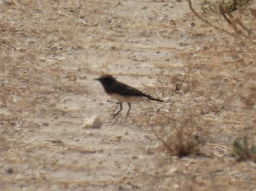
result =
[[152,129],[158,140],[170,154],[177,157],[203,154],[201,147],[206,133],[204,121],[200,117],[199,108],[191,109],[182,110],[176,116],[161,113],[152,120]]

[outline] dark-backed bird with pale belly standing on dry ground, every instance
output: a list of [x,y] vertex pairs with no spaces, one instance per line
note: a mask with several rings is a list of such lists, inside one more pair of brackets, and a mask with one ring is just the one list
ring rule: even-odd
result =
[[144,94],[140,90],[132,88],[130,85],[117,81],[111,75],[102,75],[99,78],[95,78],[95,80],[98,80],[102,84],[105,92],[108,95],[118,100],[120,109],[116,114],[114,114],[113,118],[115,118],[118,113],[123,110],[123,102],[127,102],[129,106],[126,118],[128,117],[131,109],[131,102],[141,101],[145,98],[153,101],[163,102],[161,99],[153,98],[150,95]]

